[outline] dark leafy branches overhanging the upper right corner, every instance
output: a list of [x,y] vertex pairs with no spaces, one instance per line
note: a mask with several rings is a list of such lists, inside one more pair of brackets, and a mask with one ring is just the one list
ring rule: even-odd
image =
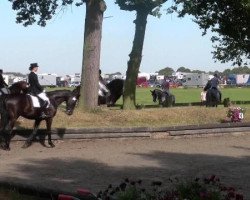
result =
[[194,16],[203,35],[208,29],[216,33],[211,40],[215,44],[213,58],[223,63],[233,61],[241,65],[250,59],[250,0],[237,1],[186,1],[174,0],[171,11],[179,17]]

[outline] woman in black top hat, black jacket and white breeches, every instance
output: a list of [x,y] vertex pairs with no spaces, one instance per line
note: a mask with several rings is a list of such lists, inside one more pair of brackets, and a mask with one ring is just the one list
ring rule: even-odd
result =
[[48,114],[46,114],[47,112],[47,108],[50,105],[50,101],[49,98],[47,97],[44,88],[40,85],[39,81],[38,81],[38,77],[37,77],[37,70],[38,70],[38,64],[37,63],[31,63],[30,67],[30,74],[28,76],[28,80],[29,80],[29,93],[32,95],[37,96],[39,99],[43,100],[43,105],[41,106],[42,108],[42,112],[41,112],[41,118],[46,118],[49,117]]

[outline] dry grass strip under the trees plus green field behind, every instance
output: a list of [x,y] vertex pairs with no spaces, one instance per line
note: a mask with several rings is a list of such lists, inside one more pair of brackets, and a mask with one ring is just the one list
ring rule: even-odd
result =
[[[152,89],[152,88],[151,88]],[[199,102],[201,89],[172,89],[176,95],[178,103]],[[229,97],[233,101],[250,100],[249,88],[228,88],[222,89],[223,97]],[[121,105],[119,99],[117,104]],[[150,88],[137,89],[137,103],[147,107],[140,110],[121,110],[119,106],[107,108],[101,106],[93,112],[82,113],[78,109],[72,116],[64,113],[64,107],[60,107],[54,118],[53,128],[70,127],[162,127],[162,126],[181,126],[181,125],[202,125],[219,124],[226,118],[228,108],[219,106],[218,108],[206,108],[201,106],[186,106],[161,108],[157,103],[152,102]],[[250,105],[241,105],[246,109],[244,121],[250,122]],[[33,121],[23,118],[19,119],[19,128],[32,128]],[[45,127],[45,123],[42,123]]]

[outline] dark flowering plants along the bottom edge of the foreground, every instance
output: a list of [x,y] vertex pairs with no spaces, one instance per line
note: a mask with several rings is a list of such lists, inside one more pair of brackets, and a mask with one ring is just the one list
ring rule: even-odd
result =
[[141,180],[126,178],[119,186],[111,184],[98,193],[100,199],[110,200],[243,200],[243,195],[233,187],[224,186],[218,177],[195,178],[192,181],[170,179],[171,187],[164,188],[160,181],[153,181],[150,188]]

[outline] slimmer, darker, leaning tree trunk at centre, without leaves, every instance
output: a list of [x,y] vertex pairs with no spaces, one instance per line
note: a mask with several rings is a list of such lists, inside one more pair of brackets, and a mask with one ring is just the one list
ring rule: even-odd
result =
[[136,108],[136,80],[142,59],[142,48],[146,31],[148,12],[138,10],[135,22],[135,36],[132,51],[129,55],[123,95],[123,109]]

